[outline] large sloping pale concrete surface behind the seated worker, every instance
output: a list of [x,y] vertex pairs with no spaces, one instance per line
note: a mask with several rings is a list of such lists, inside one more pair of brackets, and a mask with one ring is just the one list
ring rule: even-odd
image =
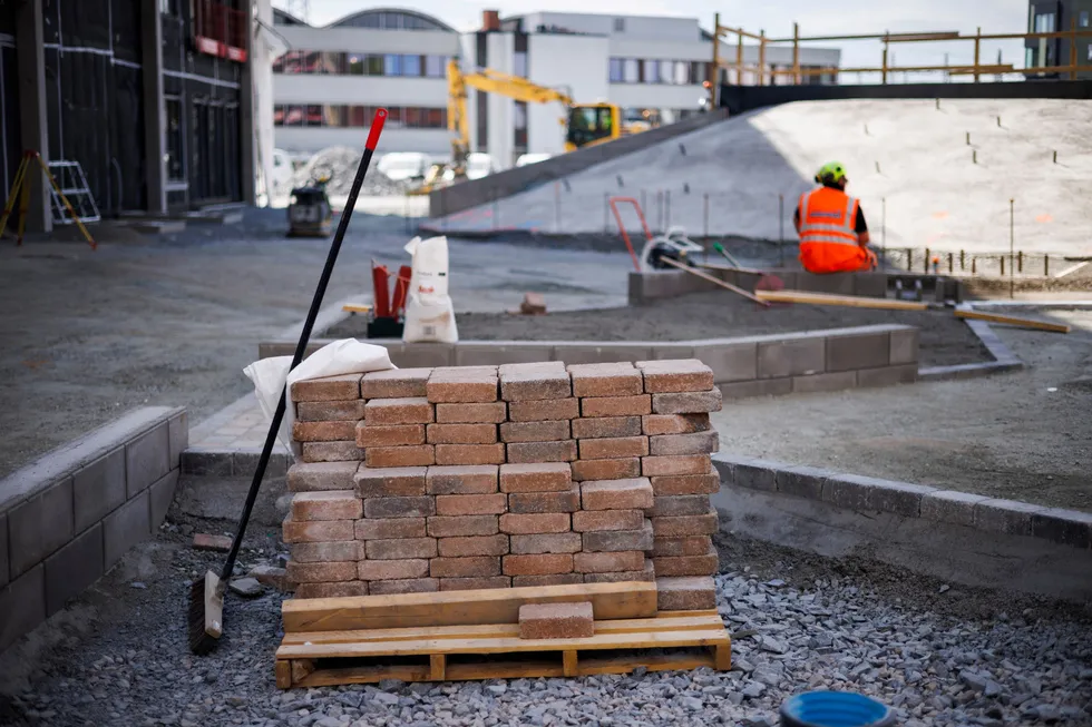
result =
[[[838,159],[877,246],[1007,253],[1015,199],[1016,249],[1086,254],[1092,143],[1079,129],[1090,122],[1088,100],[946,99],[939,109],[933,100],[786,104],[433,224],[449,234],[613,233],[607,197],[620,196],[637,199],[656,230],[791,239],[798,196],[822,164]],[[641,229],[631,206],[620,212],[628,229]]]

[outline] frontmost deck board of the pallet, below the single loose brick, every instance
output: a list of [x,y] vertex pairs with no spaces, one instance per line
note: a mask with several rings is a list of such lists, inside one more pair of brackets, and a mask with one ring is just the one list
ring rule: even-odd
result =
[[277,659],[338,659],[432,654],[517,654],[572,649],[657,649],[729,644],[723,627],[700,631],[604,633],[584,639],[421,639],[419,641],[357,641],[354,644],[287,645],[276,650]]

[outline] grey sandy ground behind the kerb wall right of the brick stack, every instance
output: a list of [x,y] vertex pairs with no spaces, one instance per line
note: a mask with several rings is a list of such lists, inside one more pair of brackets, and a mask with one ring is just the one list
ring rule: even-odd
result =
[[1092,311],[1036,315],[1073,330],[993,326],[1024,371],[733,402],[714,415],[721,448],[1092,511]]

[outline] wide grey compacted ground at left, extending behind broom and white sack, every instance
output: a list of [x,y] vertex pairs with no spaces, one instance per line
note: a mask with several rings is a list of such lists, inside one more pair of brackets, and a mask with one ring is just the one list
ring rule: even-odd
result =
[[[257,343],[306,314],[328,242],[284,237],[284,210],[240,225],[189,225],[142,238],[0,244],[0,477],[145,404],[183,405],[199,423],[253,391],[242,370]],[[371,291],[371,261],[394,266],[407,220],[357,215],[325,303]],[[450,245],[457,310],[518,307],[527,291],[552,310],[624,302],[625,255]]]

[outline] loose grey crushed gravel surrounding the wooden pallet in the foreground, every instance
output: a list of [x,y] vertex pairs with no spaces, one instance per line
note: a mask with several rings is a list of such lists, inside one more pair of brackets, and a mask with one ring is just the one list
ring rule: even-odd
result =
[[[189,655],[188,582],[213,562],[175,511],[157,541],[0,657],[0,723],[138,727],[777,724],[788,696],[854,689],[905,727],[1092,724],[1092,611],[978,591],[862,560],[719,539],[718,607],[737,635],[734,668],[582,679],[387,682],[280,691],[281,596],[227,600],[226,635]],[[265,561],[255,529],[242,561]],[[242,572],[244,569],[241,569]],[[149,639],[149,635],[155,635]]]

